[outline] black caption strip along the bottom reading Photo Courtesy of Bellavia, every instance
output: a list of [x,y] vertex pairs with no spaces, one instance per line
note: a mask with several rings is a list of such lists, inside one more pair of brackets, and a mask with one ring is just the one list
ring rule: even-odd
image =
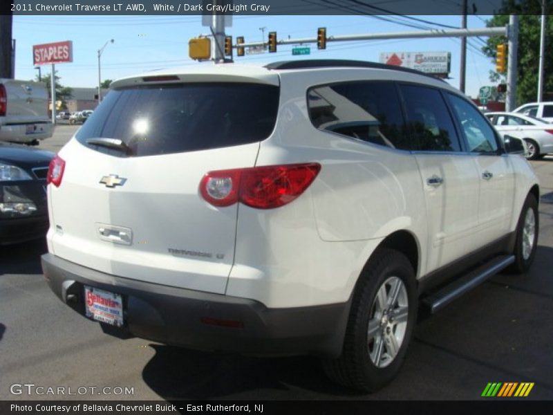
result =
[[[525,398],[485,398],[474,401],[439,400],[2,400],[0,414],[41,414],[41,415],[100,415],[100,414],[256,414],[256,415],[353,415],[374,414],[387,411],[390,414],[551,414],[552,401],[527,400]],[[382,413],[382,412],[381,412]]]

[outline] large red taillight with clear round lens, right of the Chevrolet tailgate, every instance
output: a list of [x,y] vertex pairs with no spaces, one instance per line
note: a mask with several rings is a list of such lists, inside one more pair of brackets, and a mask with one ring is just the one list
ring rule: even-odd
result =
[[218,170],[202,178],[200,193],[214,206],[279,208],[302,194],[320,170],[319,163]]

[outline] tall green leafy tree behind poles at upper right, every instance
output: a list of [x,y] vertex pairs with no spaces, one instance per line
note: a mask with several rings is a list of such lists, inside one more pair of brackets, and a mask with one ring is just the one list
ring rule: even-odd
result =
[[[545,26],[545,61],[543,77],[543,94],[553,95],[553,54],[548,52],[548,46],[553,39],[553,1],[547,0],[547,14]],[[538,95],[538,68],[540,55],[540,22],[541,1],[524,0],[506,2],[502,14],[495,15],[487,21],[487,27],[505,26],[509,24],[509,14],[519,15],[518,26],[518,73],[516,76],[516,103],[536,101]],[[496,47],[500,43],[507,43],[505,36],[489,37],[487,45],[482,51],[489,57],[496,59]],[[490,71],[491,82],[505,82],[505,75]],[[553,97],[552,97],[553,98]]]

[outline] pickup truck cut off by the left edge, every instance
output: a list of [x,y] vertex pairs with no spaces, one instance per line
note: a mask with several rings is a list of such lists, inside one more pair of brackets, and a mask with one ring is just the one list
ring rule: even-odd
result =
[[44,84],[0,78],[0,141],[37,145],[52,132]]

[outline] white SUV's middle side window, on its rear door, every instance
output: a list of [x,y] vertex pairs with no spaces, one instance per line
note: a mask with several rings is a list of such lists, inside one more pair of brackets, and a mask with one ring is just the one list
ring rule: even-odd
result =
[[453,120],[438,89],[400,86],[407,122],[420,151],[460,151]]

